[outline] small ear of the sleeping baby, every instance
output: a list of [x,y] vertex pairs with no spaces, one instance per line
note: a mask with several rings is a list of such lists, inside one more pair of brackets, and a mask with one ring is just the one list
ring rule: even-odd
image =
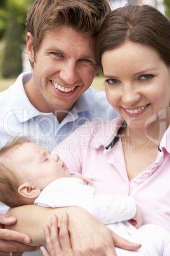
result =
[[36,197],[38,197],[41,193],[41,190],[39,190],[39,188],[32,188],[30,183],[23,183],[20,185],[20,187],[18,187],[18,193],[20,193],[21,196],[29,199],[36,199]]

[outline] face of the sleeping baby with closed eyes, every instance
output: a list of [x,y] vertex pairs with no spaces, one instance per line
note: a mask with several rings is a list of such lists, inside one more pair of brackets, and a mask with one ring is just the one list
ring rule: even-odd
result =
[[17,171],[23,180],[42,190],[58,178],[70,177],[69,170],[60,157],[50,154],[48,150],[36,143],[24,143],[13,152]]

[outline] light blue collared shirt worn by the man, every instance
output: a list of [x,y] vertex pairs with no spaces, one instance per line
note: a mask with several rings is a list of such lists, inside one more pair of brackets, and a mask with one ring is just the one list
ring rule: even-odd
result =
[[[84,122],[117,117],[117,112],[107,102],[105,92],[90,87],[77,99],[72,110],[59,124],[53,113],[42,113],[30,103],[24,85],[31,76],[32,72],[22,73],[8,90],[0,93],[1,147],[15,136],[29,135],[31,141],[51,152]],[[8,208],[0,203],[0,213],[6,210]],[[32,255],[36,255],[35,252]]]

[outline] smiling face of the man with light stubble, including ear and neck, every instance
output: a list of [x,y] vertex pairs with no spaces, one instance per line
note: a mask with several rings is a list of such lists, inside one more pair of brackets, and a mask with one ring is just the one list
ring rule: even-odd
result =
[[43,112],[69,111],[98,69],[93,39],[62,26],[44,35],[36,56],[32,40],[29,33],[27,50],[34,69],[25,91],[30,102]]

